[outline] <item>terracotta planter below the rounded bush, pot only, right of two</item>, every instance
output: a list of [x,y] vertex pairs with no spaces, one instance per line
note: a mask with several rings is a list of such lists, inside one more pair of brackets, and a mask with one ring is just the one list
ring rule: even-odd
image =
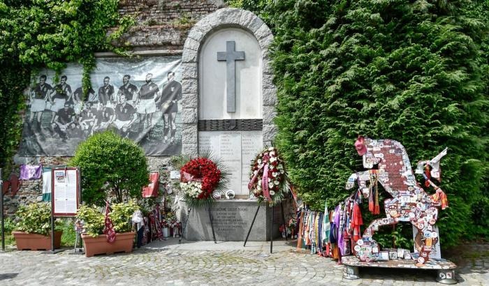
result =
[[85,256],[92,257],[97,254],[113,254],[124,251],[133,251],[133,241],[136,232],[122,232],[115,234],[114,243],[107,242],[107,236],[101,234],[97,237],[82,234],[83,244],[85,244]]

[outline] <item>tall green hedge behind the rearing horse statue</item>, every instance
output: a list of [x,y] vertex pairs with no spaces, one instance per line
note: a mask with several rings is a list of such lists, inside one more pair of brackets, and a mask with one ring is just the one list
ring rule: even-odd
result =
[[404,144],[413,164],[448,147],[441,162],[440,186],[450,202],[438,220],[442,246],[488,236],[487,18],[467,13],[469,5],[483,4],[282,0],[268,6],[276,144],[312,209],[349,195],[346,179],[363,170],[357,135],[391,138]]

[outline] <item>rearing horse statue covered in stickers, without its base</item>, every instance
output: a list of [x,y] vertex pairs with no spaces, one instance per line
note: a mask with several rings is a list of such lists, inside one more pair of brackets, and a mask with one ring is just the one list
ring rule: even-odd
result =
[[[369,170],[351,174],[346,189],[353,188],[357,181],[359,190],[369,198],[370,211],[374,214],[379,213],[377,182],[392,196],[384,201],[386,218],[372,221],[363,237],[356,241],[356,257],[362,262],[379,260],[379,246],[372,235],[383,225],[404,221],[414,225],[418,229],[418,236],[421,236],[418,237],[421,243],[416,243],[418,264],[428,262],[432,246],[438,239],[433,229],[438,218],[437,208],[448,206],[446,195],[430,178],[440,180],[439,161],[446,155],[446,149],[432,160],[420,161],[416,168],[416,174],[423,174],[427,186],[433,186],[436,190],[435,195],[428,195],[416,181],[406,149],[400,142],[358,137],[355,146],[358,155],[363,156],[363,167]],[[377,169],[372,169],[376,165]]]

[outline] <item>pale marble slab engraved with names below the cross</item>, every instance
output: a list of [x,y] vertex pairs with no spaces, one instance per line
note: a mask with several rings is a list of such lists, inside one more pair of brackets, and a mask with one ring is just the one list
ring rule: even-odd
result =
[[212,151],[231,171],[228,189],[247,196],[249,165],[263,147],[261,131],[201,131],[198,141],[199,152]]

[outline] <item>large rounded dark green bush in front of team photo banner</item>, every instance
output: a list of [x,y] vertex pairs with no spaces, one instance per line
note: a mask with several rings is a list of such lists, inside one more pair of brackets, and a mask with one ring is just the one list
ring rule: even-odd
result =
[[141,197],[141,188],[149,183],[143,149],[112,130],[82,142],[70,165],[81,168],[82,200],[87,204],[105,206],[106,194],[116,202]]

